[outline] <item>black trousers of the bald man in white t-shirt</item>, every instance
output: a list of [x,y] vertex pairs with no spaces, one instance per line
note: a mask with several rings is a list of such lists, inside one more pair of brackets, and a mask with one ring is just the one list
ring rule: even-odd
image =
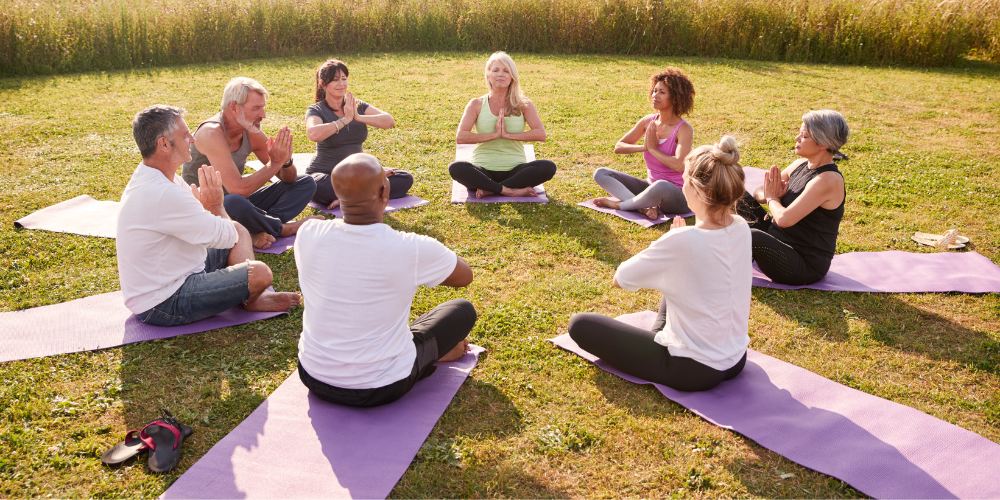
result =
[[410,391],[418,380],[434,373],[434,363],[465,339],[476,324],[476,309],[465,299],[455,299],[431,309],[410,325],[417,358],[410,375],[372,389],[344,389],[316,380],[299,363],[299,378],[320,399],[347,406],[391,403]]

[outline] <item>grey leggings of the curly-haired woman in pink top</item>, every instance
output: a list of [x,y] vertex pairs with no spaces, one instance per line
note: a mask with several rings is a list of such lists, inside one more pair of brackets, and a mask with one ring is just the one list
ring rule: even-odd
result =
[[686,214],[691,211],[681,188],[669,181],[659,180],[650,184],[604,167],[594,171],[594,181],[611,196],[621,200],[622,210],[658,207],[665,214]]

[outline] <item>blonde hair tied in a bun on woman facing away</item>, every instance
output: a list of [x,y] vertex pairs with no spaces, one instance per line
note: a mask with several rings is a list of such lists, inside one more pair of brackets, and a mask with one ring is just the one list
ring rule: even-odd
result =
[[736,138],[724,135],[718,144],[698,146],[684,158],[688,182],[710,211],[733,212],[743,197],[743,167]]

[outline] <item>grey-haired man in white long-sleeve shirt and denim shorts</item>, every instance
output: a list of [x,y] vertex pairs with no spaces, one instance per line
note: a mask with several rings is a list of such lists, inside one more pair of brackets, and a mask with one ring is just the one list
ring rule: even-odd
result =
[[222,179],[211,166],[200,187],[176,175],[191,159],[184,111],[152,106],[132,121],[142,162],[122,193],[118,273],[125,306],[144,323],[191,323],[243,304],[251,311],[286,311],[293,292],[269,291],[267,264],[251,260],[250,233],[223,208]]

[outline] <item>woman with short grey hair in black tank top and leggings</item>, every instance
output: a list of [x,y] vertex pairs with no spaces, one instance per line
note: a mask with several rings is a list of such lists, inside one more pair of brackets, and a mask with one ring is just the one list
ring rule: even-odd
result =
[[847,121],[836,111],[802,115],[795,154],[803,159],[784,170],[772,166],[764,185],[737,204],[750,223],[753,259],[775,283],[807,285],[830,270],[846,197],[833,155],[848,133]]

